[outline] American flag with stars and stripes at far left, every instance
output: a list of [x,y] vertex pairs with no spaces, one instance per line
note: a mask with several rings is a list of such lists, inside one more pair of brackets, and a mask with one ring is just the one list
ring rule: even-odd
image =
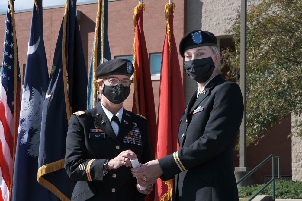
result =
[[[12,0],[9,2],[14,7],[14,2]],[[14,11],[8,5],[0,71],[0,151],[2,152],[0,154],[0,200],[9,200],[14,160],[14,141],[17,139],[21,107],[21,74],[14,26]]]

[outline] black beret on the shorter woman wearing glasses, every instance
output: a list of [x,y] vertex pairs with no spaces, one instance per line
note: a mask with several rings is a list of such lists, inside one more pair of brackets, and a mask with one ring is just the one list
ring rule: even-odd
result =
[[95,70],[95,77],[102,75],[131,75],[134,73],[134,67],[128,59],[112,59],[100,64]]

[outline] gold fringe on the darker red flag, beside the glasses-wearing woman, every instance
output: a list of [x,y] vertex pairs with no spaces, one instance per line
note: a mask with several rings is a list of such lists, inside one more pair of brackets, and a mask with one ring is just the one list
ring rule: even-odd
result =
[[143,2],[140,2],[135,8],[134,8],[134,15],[133,15],[133,25],[134,25],[134,43],[133,43],[133,66],[134,66],[134,73],[133,73],[133,83],[134,83],[134,96],[135,96],[135,105],[136,105],[136,110],[137,114],[140,114],[140,107],[138,104],[138,92],[137,92],[137,80],[136,80],[136,62],[135,62],[135,27],[136,27],[136,19],[137,19],[137,14],[141,9],[144,9],[145,11],[145,4]]

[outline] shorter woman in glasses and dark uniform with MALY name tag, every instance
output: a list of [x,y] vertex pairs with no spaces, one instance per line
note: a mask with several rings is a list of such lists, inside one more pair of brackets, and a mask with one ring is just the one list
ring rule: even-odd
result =
[[65,169],[77,180],[73,201],[144,200],[153,187],[137,188],[131,160],[152,160],[146,118],[123,108],[134,68],[127,59],[107,61],[96,69],[101,101],[70,117]]

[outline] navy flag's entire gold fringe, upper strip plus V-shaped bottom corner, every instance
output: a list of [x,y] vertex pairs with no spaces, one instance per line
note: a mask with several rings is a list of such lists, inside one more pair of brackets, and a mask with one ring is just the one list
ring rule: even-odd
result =
[[[63,82],[64,82],[64,94],[65,94],[65,104],[66,104],[66,113],[67,113],[67,121],[69,125],[69,118],[70,118],[70,111],[71,108],[69,107],[69,100],[68,100],[68,89],[67,89],[67,77],[66,77],[66,24],[67,24],[67,11],[68,11],[68,0],[66,0],[66,5],[65,5],[65,13],[64,13],[64,24],[63,24],[63,37],[62,37],[62,71],[63,71]],[[65,68],[65,69],[64,69]],[[64,162],[65,159],[61,159],[56,162],[52,162],[46,165],[43,165],[38,169],[37,173],[37,180],[39,184],[41,184],[43,187],[47,188],[50,190],[53,194],[55,194],[60,200],[62,201],[70,201],[68,197],[66,197],[59,189],[57,189],[53,184],[51,184],[49,181],[44,179],[42,176],[44,174],[48,174],[60,169],[64,168]]]

